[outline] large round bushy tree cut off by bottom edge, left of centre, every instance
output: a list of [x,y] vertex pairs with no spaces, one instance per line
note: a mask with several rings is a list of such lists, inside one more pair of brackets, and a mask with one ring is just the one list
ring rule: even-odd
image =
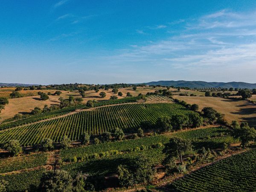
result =
[[44,192],[72,192],[72,184],[72,177],[64,170],[45,172],[41,178],[41,189]]

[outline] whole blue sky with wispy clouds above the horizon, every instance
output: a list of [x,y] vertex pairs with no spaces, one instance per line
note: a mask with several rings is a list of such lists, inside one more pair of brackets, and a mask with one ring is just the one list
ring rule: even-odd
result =
[[0,0],[0,82],[256,83],[256,0]]

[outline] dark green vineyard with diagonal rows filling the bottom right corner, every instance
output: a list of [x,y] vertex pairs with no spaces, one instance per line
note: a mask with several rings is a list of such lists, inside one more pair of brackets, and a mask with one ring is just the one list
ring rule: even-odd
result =
[[172,183],[178,192],[241,191],[256,189],[256,150],[227,157]]

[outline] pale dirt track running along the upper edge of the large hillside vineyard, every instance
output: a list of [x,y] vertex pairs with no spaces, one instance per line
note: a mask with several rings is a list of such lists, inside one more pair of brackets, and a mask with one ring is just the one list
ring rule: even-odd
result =
[[[79,112],[82,112],[82,111],[93,111],[94,109],[97,109],[97,108],[103,108],[103,107],[109,107],[109,106],[117,106],[117,105],[126,105],[126,104],[138,104],[138,103],[142,103],[142,102],[119,103],[119,104],[113,104],[113,105],[103,105],[103,106],[100,106],[100,107],[95,107],[95,108],[90,108],[90,109],[77,109],[76,111],[72,111],[72,112],[64,114],[64,115],[55,116],[55,117],[52,117],[52,118],[49,118],[49,119],[40,120],[40,121],[37,121],[37,122],[32,122],[32,123],[28,123],[28,124],[12,127],[12,128],[3,129],[3,130],[0,130],[0,133],[3,132],[3,131],[6,131],[6,130],[13,129],[13,128],[19,128],[19,127],[34,125],[36,123],[46,122],[46,121],[50,121],[50,120],[53,120],[53,119],[58,119],[58,118],[61,118],[61,117],[73,115],[73,114],[76,114],[76,113],[79,113]],[[146,104],[157,104],[157,103],[173,103],[173,102],[172,101],[146,102]]]

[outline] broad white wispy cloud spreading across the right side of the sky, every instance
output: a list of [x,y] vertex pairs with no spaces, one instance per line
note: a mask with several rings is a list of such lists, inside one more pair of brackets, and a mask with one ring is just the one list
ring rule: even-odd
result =
[[[178,23],[183,23],[184,30],[179,35],[145,45],[137,44],[105,59],[112,63],[147,63],[195,72],[207,67],[217,73],[223,66],[240,72],[245,66],[256,70],[255,16],[256,12],[237,13],[225,9],[186,23],[180,20]],[[136,31],[145,34],[143,30]]]

